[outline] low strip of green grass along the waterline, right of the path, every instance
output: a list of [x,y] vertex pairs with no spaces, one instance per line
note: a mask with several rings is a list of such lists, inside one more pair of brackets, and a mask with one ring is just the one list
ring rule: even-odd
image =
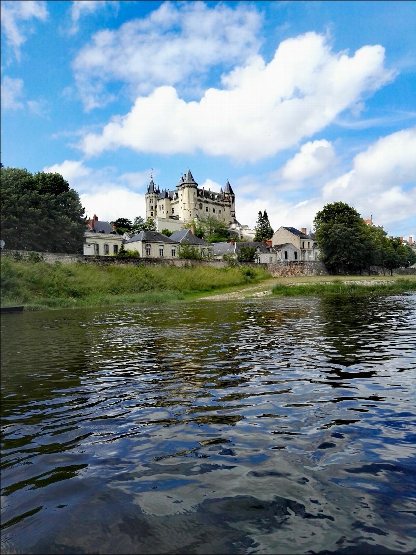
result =
[[[366,280],[360,276],[361,280]],[[357,278],[356,278],[357,279]],[[339,278],[331,282],[283,284],[278,283],[272,289],[273,295],[278,296],[314,296],[314,295],[367,295],[371,293],[393,293],[416,291],[416,279],[395,278],[384,280],[371,280],[367,285],[354,281],[344,283]]]

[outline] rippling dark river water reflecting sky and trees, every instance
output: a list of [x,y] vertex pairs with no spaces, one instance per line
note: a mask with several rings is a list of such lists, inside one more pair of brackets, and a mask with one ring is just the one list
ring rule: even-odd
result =
[[415,553],[415,324],[413,293],[2,315],[2,553]]

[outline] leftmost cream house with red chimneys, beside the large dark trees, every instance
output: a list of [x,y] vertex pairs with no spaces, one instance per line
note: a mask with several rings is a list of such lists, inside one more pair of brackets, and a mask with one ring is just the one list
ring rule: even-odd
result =
[[123,244],[123,235],[115,230],[115,225],[98,219],[97,214],[88,220],[85,233],[83,253],[85,255],[116,255]]

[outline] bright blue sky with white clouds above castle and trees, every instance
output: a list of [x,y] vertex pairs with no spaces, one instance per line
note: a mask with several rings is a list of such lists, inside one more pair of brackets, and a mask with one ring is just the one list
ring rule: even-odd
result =
[[227,180],[236,218],[313,231],[342,201],[416,240],[416,2],[1,2],[1,162],[85,215]]

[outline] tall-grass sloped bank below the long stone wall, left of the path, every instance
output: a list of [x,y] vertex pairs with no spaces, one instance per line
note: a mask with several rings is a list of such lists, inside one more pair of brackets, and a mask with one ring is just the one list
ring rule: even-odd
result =
[[270,278],[248,266],[49,265],[11,257],[2,258],[0,269],[1,305],[26,310],[170,302]]

